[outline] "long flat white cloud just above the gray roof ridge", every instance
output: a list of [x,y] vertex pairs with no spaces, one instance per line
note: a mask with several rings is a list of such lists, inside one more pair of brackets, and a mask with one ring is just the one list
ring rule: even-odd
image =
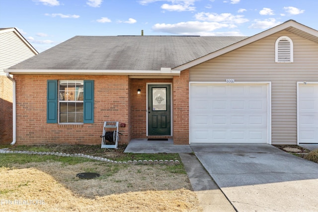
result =
[[176,24],[157,23],[153,26],[152,29],[157,32],[166,32],[180,35],[193,35],[197,33],[210,32],[224,27],[231,27],[231,25],[217,22],[188,21]]

